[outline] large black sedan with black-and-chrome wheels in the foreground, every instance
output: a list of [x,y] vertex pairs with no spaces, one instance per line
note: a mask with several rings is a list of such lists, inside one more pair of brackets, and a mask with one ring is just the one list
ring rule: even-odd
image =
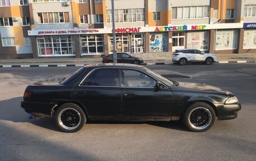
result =
[[201,132],[241,109],[234,94],[219,88],[178,83],[138,65],[88,65],[59,83],[29,85],[21,107],[30,117],[55,117],[64,132],[87,120],[176,121]]

